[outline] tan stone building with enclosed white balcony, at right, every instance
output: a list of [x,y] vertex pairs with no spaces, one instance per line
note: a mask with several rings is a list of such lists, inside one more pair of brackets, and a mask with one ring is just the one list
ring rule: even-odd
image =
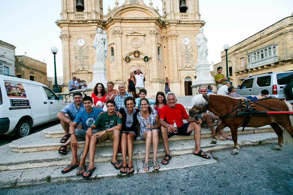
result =
[[[293,70],[293,15],[261,30],[228,50],[228,72],[234,86],[250,75]],[[214,65],[226,75],[226,53]]]

